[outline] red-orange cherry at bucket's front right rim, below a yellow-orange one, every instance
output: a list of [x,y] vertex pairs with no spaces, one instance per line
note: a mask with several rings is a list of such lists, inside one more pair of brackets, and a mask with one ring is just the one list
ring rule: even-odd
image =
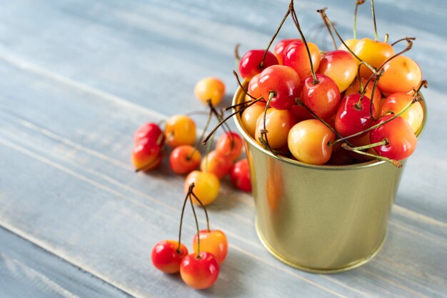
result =
[[[392,117],[393,115],[383,116],[376,121],[376,124],[383,123]],[[371,130],[369,139],[371,144],[386,140],[386,144],[373,148],[381,157],[394,160],[403,160],[409,157],[416,149],[417,144],[411,126],[400,116]]]

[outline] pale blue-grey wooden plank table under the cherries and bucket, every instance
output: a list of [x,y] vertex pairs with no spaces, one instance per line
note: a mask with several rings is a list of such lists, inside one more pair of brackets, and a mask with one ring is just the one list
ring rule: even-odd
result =
[[[328,6],[351,37],[353,3],[296,1],[296,8],[306,31],[321,22],[315,10]],[[426,131],[372,262],[333,275],[282,264],[256,237],[251,195],[225,181],[209,208],[229,242],[216,284],[196,291],[151,265],[154,244],[176,238],[184,177],[166,161],[135,174],[134,131],[204,110],[193,94],[204,76],[226,82],[228,105],[234,45],[265,47],[286,8],[284,0],[1,1],[0,297],[447,297],[441,0],[376,0],[380,36],[417,37],[408,56],[430,87]],[[368,4],[358,34],[373,34]],[[291,36],[288,21],[278,38]],[[317,43],[330,46],[321,36]],[[195,119],[204,126],[205,117]],[[186,215],[184,239],[194,229]]]

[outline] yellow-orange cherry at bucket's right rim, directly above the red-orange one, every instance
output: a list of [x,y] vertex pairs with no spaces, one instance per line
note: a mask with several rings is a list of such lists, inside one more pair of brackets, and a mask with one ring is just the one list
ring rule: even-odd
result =
[[[413,100],[413,96],[406,93],[393,93],[389,95],[381,108],[381,115],[386,115],[388,113],[398,114],[403,108]],[[410,124],[411,129],[414,133],[421,128],[423,121],[423,109],[420,102],[415,102],[400,115],[405,119],[408,124]]]

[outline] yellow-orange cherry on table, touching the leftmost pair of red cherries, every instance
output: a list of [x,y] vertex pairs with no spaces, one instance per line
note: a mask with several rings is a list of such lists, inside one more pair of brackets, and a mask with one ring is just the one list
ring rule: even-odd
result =
[[171,116],[166,121],[164,135],[169,146],[193,145],[196,141],[196,124],[186,115]]

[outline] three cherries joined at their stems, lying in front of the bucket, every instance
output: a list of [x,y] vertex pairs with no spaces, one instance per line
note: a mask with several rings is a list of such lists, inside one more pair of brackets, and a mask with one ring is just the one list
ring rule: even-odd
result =
[[[206,212],[207,229],[199,231],[199,222],[194,209],[193,200],[204,204],[194,193],[194,183],[191,183],[186,193],[184,205],[181,210],[179,241],[164,240],[155,244],[152,249],[152,263],[167,274],[180,272],[181,279],[194,289],[206,289],[211,287],[219,277],[219,266],[224,262],[228,252],[228,242],[224,232],[219,229],[211,230],[209,217]],[[187,202],[191,202],[191,209],[196,220],[197,234],[193,239],[194,253],[189,254],[188,249],[181,243],[181,226]]]

